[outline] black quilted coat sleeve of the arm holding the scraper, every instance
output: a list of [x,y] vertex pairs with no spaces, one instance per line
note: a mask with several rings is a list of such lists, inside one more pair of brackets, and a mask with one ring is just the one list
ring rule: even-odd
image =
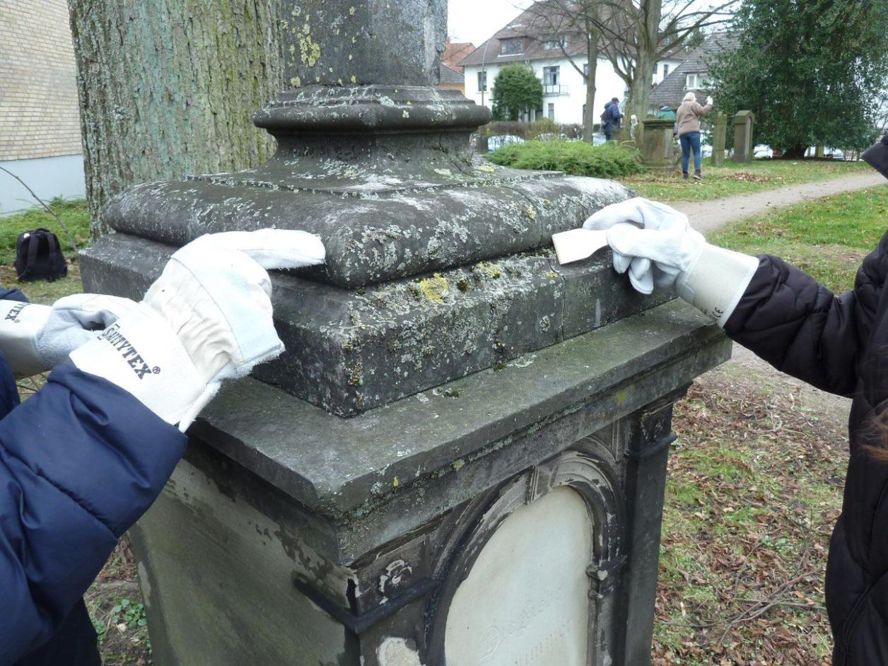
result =
[[850,395],[881,290],[884,242],[864,260],[854,289],[840,296],[780,258],[762,255],[725,332],[776,369]]

